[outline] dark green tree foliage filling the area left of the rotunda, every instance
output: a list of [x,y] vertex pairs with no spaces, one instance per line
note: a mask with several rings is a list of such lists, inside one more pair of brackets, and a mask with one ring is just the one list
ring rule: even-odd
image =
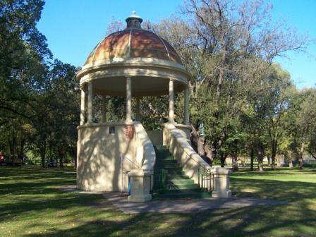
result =
[[43,5],[0,3],[0,151],[20,163],[32,150],[44,166],[47,154],[74,156],[79,104],[75,68],[51,61],[36,28]]

